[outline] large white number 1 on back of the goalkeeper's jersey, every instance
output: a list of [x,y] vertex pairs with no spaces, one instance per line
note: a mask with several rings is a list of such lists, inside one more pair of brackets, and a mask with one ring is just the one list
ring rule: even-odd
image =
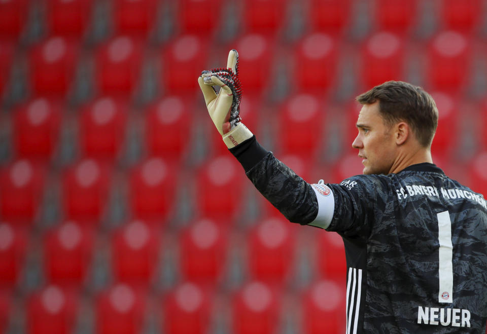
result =
[[451,220],[448,211],[437,214],[439,269],[438,277],[440,289],[438,291],[439,303],[453,303],[453,244],[451,244]]

